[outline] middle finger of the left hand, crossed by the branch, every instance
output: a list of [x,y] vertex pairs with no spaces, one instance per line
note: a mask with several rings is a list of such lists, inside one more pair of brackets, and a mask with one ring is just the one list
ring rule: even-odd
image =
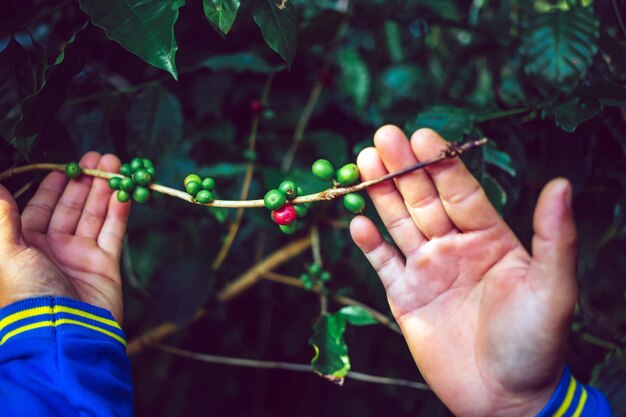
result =
[[[80,166],[93,169],[98,166],[99,161],[99,153],[88,152],[80,160]],[[93,178],[87,175],[82,175],[80,178],[69,182],[54,208],[48,233],[74,234],[92,182]]]

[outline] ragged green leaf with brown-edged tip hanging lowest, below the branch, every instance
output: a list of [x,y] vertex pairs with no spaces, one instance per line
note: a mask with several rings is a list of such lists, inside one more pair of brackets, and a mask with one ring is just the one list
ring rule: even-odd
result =
[[343,382],[350,372],[348,346],[343,339],[346,319],[341,314],[324,314],[313,325],[313,331],[309,339],[315,349],[311,360],[313,370],[333,382]]

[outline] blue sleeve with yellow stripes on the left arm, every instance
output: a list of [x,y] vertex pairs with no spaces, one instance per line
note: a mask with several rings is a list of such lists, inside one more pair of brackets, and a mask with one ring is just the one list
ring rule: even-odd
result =
[[0,309],[0,415],[132,416],[126,341],[111,313],[56,297]]

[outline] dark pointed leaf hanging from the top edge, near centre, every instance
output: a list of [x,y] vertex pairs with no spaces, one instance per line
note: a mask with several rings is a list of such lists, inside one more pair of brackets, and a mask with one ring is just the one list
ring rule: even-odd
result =
[[293,1],[253,0],[252,16],[263,32],[265,43],[291,68],[298,43],[298,19]]

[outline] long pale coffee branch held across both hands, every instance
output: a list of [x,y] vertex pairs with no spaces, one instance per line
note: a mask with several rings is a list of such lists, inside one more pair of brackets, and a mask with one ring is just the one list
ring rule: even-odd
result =
[[[342,195],[345,194],[350,194],[350,193],[354,193],[357,191],[362,191],[364,189],[366,189],[367,187],[371,187],[373,185],[376,184],[380,184],[381,182],[384,181],[388,181],[391,180],[393,178],[399,177],[401,175],[405,175],[408,174],[409,172],[413,172],[415,170],[418,169],[422,169],[425,168],[429,165],[435,164],[437,162],[443,161],[444,159],[453,159],[456,158],[457,156],[459,156],[460,154],[469,151],[470,149],[474,149],[476,147],[479,146],[483,146],[484,144],[487,143],[487,139],[486,138],[482,138],[479,140],[474,140],[474,141],[468,141],[465,142],[461,145],[456,145],[456,144],[450,144],[448,145],[448,148],[445,149],[444,151],[442,151],[439,155],[437,155],[434,158],[428,159],[426,161],[423,162],[418,162],[414,165],[408,166],[406,168],[400,169],[398,171],[395,172],[391,172],[389,174],[383,175],[382,177],[373,179],[373,180],[369,180],[369,181],[363,181],[359,184],[356,185],[352,185],[350,187],[336,187],[336,188],[329,188],[327,190],[321,191],[319,193],[315,193],[315,194],[309,194],[309,195],[305,195],[302,197],[296,197],[293,200],[291,200],[292,204],[301,204],[301,203],[311,203],[311,202],[315,202],[315,201],[328,201],[328,200],[332,200],[335,199],[337,197],[340,197]],[[5,172],[0,173],[0,182],[5,180],[6,178],[11,177],[12,175],[15,174],[19,174],[19,173],[23,173],[23,172],[28,172],[28,171],[36,171],[36,170],[47,170],[47,171],[64,171],[65,170],[65,165],[64,164],[30,164],[30,165],[23,165],[20,167],[14,167],[14,168],[10,168]],[[122,175],[117,174],[117,173],[113,173],[113,172],[106,172],[106,171],[99,171],[96,169],[88,169],[88,168],[83,168],[83,173],[85,175],[90,175],[92,177],[98,177],[98,178],[112,178],[112,177],[122,177]],[[161,194],[166,194],[169,195],[171,197],[176,197],[176,198],[180,198],[181,200],[185,200],[189,203],[192,204],[197,204],[197,205],[202,205],[202,206],[208,206],[208,207],[225,207],[225,208],[259,208],[259,207],[265,207],[265,204],[263,202],[262,199],[259,200],[213,200],[211,202],[205,203],[205,204],[200,204],[198,202],[196,202],[192,196],[190,196],[188,193],[181,191],[181,190],[176,190],[174,188],[170,188],[170,187],[166,187],[164,185],[160,185],[160,184],[150,184],[148,186],[148,188],[150,188],[153,191],[159,192]]]

